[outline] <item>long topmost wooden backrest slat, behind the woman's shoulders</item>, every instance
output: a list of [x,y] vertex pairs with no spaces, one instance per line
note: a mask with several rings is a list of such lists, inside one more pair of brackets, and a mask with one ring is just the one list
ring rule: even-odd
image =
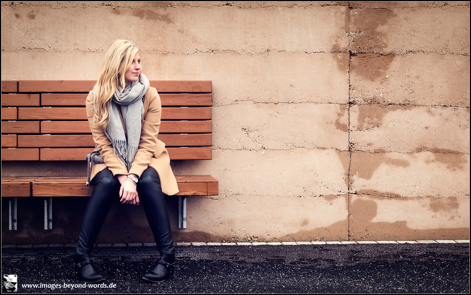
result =
[[[96,80],[19,80],[18,92],[89,92],[96,83]],[[212,92],[211,81],[152,80],[149,83],[151,87],[157,88],[158,92]]]

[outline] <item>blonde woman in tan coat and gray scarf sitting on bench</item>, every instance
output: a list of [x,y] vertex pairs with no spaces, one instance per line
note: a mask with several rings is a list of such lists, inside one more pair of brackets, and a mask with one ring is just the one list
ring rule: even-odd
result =
[[173,276],[175,246],[163,193],[178,192],[165,144],[157,139],[161,103],[141,73],[140,53],[128,40],[115,40],[90,91],[87,116],[93,139],[105,164],[93,164],[93,192],[83,215],[74,265],[88,283],[104,279],[93,266],[91,250],[113,199],[142,202],[161,258],[143,279],[162,282]]

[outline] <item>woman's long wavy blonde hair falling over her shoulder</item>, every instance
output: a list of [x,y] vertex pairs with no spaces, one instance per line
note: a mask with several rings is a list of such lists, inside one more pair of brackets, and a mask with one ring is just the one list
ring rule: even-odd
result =
[[93,98],[92,123],[100,130],[104,131],[108,126],[111,99],[119,85],[124,88],[124,73],[129,69],[138,51],[138,47],[128,40],[114,40],[106,52]]

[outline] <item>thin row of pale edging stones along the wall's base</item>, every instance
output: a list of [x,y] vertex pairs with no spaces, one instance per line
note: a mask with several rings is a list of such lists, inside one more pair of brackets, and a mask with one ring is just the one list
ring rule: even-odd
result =
[[[312,241],[312,242],[183,242],[177,246],[260,246],[260,245],[347,245],[347,244],[437,244],[437,243],[469,243],[469,239],[420,239],[415,241]],[[40,244],[40,245],[2,245],[2,248],[40,248],[40,247],[75,247],[76,244]],[[156,246],[155,243],[129,243],[129,244],[97,244],[96,247],[147,247]]]

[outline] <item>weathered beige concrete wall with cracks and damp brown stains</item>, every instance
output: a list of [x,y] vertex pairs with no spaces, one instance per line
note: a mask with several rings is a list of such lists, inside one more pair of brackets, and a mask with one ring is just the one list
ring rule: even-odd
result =
[[[172,167],[219,196],[188,199],[186,230],[168,199],[176,241],[469,239],[469,16],[463,1],[2,2],[1,80],[97,79],[118,38],[150,80],[212,80],[213,159]],[[2,175],[84,175],[68,165]],[[53,231],[22,201],[31,224],[2,220],[2,237],[75,240],[86,199],[55,199]],[[98,240],[152,233],[116,204]]]

